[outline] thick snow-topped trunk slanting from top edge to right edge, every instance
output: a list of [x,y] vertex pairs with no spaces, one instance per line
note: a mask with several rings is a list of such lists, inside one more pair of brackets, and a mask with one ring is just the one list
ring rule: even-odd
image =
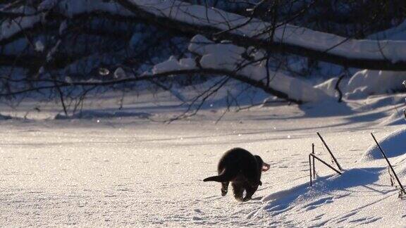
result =
[[346,67],[406,70],[406,42],[359,40],[295,25],[278,25],[216,8],[176,0],[117,0],[150,23],[173,30],[227,39],[272,51],[287,51]]

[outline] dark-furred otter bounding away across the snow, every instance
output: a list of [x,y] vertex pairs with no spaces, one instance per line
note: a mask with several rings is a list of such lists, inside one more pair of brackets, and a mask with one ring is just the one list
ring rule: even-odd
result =
[[221,182],[221,196],[226,196],[231,182],[235,199],[249,201],[258,186],[262,185],[261,173],[268,171],[269,167],[261,157],[254,156],[243,148],[232,148],[219,161],[219,175],[207,177],[203,181]]

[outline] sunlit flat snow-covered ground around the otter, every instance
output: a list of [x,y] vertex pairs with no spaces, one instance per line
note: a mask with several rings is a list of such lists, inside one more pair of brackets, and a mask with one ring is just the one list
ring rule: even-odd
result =
[[[402,226],[406,202],[390,186],[385,160],[362,158],[373,145],[370,132],[383,139],[405,128],[393,125],[402,124],[404,95],[254,106],[217,123],[223,110],[208,106],[169,125],[152,121],[180,112],[167,94],[159,103],[127,96],[116,118],[97,111],[117,107],[113,97],[95,102],[87,113],[95,118],[50,120],[51,105],[39,113],[24,110],[30,103],[3,107],[3,115],[37,120],[0,120],[0,226]],[[312,143],[331,160],[316,132],[345,172],[336,176],[316,163],[319,178],[309,187]],[[271,165],[246,203],[202,182],[233,147]],[[402,167],[402,159],[390,160]]]

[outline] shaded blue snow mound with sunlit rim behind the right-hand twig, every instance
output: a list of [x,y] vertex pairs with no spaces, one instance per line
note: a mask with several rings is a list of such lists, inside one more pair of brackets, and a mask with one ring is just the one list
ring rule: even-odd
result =
[[[406,153],[406,128],[398,129],[397,131],[388,134],[387,137],[379,141],[383,151],[388,158],[401,156]],[[362,155],[362,161],[376,160],[383,158],[378,146],[374,144],[370,146]]]

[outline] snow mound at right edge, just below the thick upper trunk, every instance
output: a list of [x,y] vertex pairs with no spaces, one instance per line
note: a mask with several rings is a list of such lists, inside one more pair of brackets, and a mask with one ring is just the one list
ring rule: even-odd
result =
[[360,70],[350,79],[345,88],[348,99],[362,99],[372,94],[385,94],[404,89],[402,82],[406,72],[383,70]]

